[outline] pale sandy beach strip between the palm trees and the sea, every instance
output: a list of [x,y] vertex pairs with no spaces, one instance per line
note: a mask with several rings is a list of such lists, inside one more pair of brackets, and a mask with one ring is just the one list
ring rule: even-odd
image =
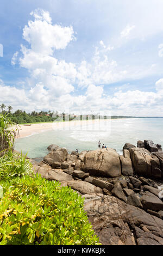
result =
[[[109,119],[108,119],[109,120]],[[108,121],[107,120],[107,121]],[[71,127],[82,127],[86,125],[93,125],[95,123],[101,123],[106,120],[76,120],[76,121],[65,121],[65,122],[53,122],[53,123],[40,123],[40,124],[31,124],[27,125],[18,125],[17,128],[19,130],[19,135],[17,138],[28,137],[40,132],[51,131],[51,130],[68,130]],[[12,129],[16,129],[16,126],[12,127]]]

